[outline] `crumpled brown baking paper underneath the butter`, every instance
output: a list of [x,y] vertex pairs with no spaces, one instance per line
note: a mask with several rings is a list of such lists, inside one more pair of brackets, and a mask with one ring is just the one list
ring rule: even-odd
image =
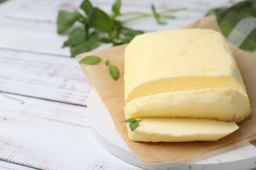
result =
[[[202,18],[186,28],[200,27],[219,30],[214,16]],[[145,143],[130,141],[127,137],[126,124],[121,124],[125,120],[123,111],[124,89],[123,89],[123,54],[125,45],[108,48],[95,52],[87,52],[77,56],[81,60],[85,56],[100,56],[101,58],[110,58],[113,65],[116,65],[120,72],[120,78],[117,81],[112,80],[108,73],[108,68],[102,62],[99,65],[81,65],[85,75],[93,84],[98,95],[108,108],[116,130],[123,138],[129,149],[146,164],[165,163],[170,161],[184,161],[200,156],[209,156],[209,154],[221,152],[243,141],[256,139],[256,55],[250,52],[244,52],[232,46],[234,57],[244,78],[247,93],[251,103],[251,115],[243,122],[238,124],[240,129],[231,135],[220,139],[219,141],[209,142],[185,142],[185,143]]]

